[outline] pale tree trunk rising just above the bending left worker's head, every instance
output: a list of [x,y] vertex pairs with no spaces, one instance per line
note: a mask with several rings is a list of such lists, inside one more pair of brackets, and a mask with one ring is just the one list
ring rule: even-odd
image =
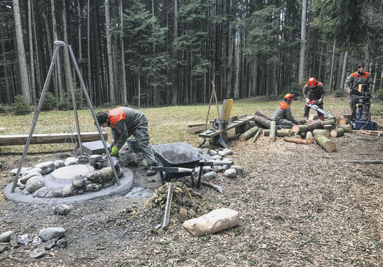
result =
[[109,0],[105,0],[105,19],[107,28],[107,55],[108,55],[108,70],[109,70],[109,97],[111,104],[116,104],[116,90],[114,88],[114,70],[113,70],[113,51],[111,49],[111,25],[109,13]]

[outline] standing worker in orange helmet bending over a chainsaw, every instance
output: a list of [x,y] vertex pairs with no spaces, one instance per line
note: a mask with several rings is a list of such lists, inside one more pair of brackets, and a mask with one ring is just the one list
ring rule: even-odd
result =
[[[325,86],[315,78],[308,79],[308,82],[304,85],[303,96],[306,97],[306,104],[315,101],[318,108],[323,109],[323,97],[326,95]],[[304,117],[308,118],[310,113],[310,107],[304,105]],[[320,120],[325,120],[325,115],[317,111]]]

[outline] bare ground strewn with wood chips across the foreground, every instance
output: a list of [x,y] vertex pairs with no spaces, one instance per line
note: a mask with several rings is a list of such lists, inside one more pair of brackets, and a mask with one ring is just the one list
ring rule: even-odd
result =
[[[383,138],[346,133],[334,138],[336,151],[261,137],[230,140],[235,164],[244,172],[219,174],[211,188],[196,189],[215,207],[240,213],[240,225],[194,237],[181,223],[155,230],[164,210],[149,198],[116,195],[71,204],[57,215],[49,204],[19,204],[0,197],[0,232],[31,238],[45,227],[64,227],[68,247],[30,259],[33,246],[8,248],[0,266],[383,266],[383,165],[341,163],[346,159],[383,159]],[[49,155],[35,154],[25,165]],[[19,154],[0,156],[8,170]],[[13,177],[0,172],[0,188]],[[135,184],[153,191],[161,183],[133,169]],[[1,196],[2,194],[0,194]],[[172,216],[172,215],[171,215]]]

